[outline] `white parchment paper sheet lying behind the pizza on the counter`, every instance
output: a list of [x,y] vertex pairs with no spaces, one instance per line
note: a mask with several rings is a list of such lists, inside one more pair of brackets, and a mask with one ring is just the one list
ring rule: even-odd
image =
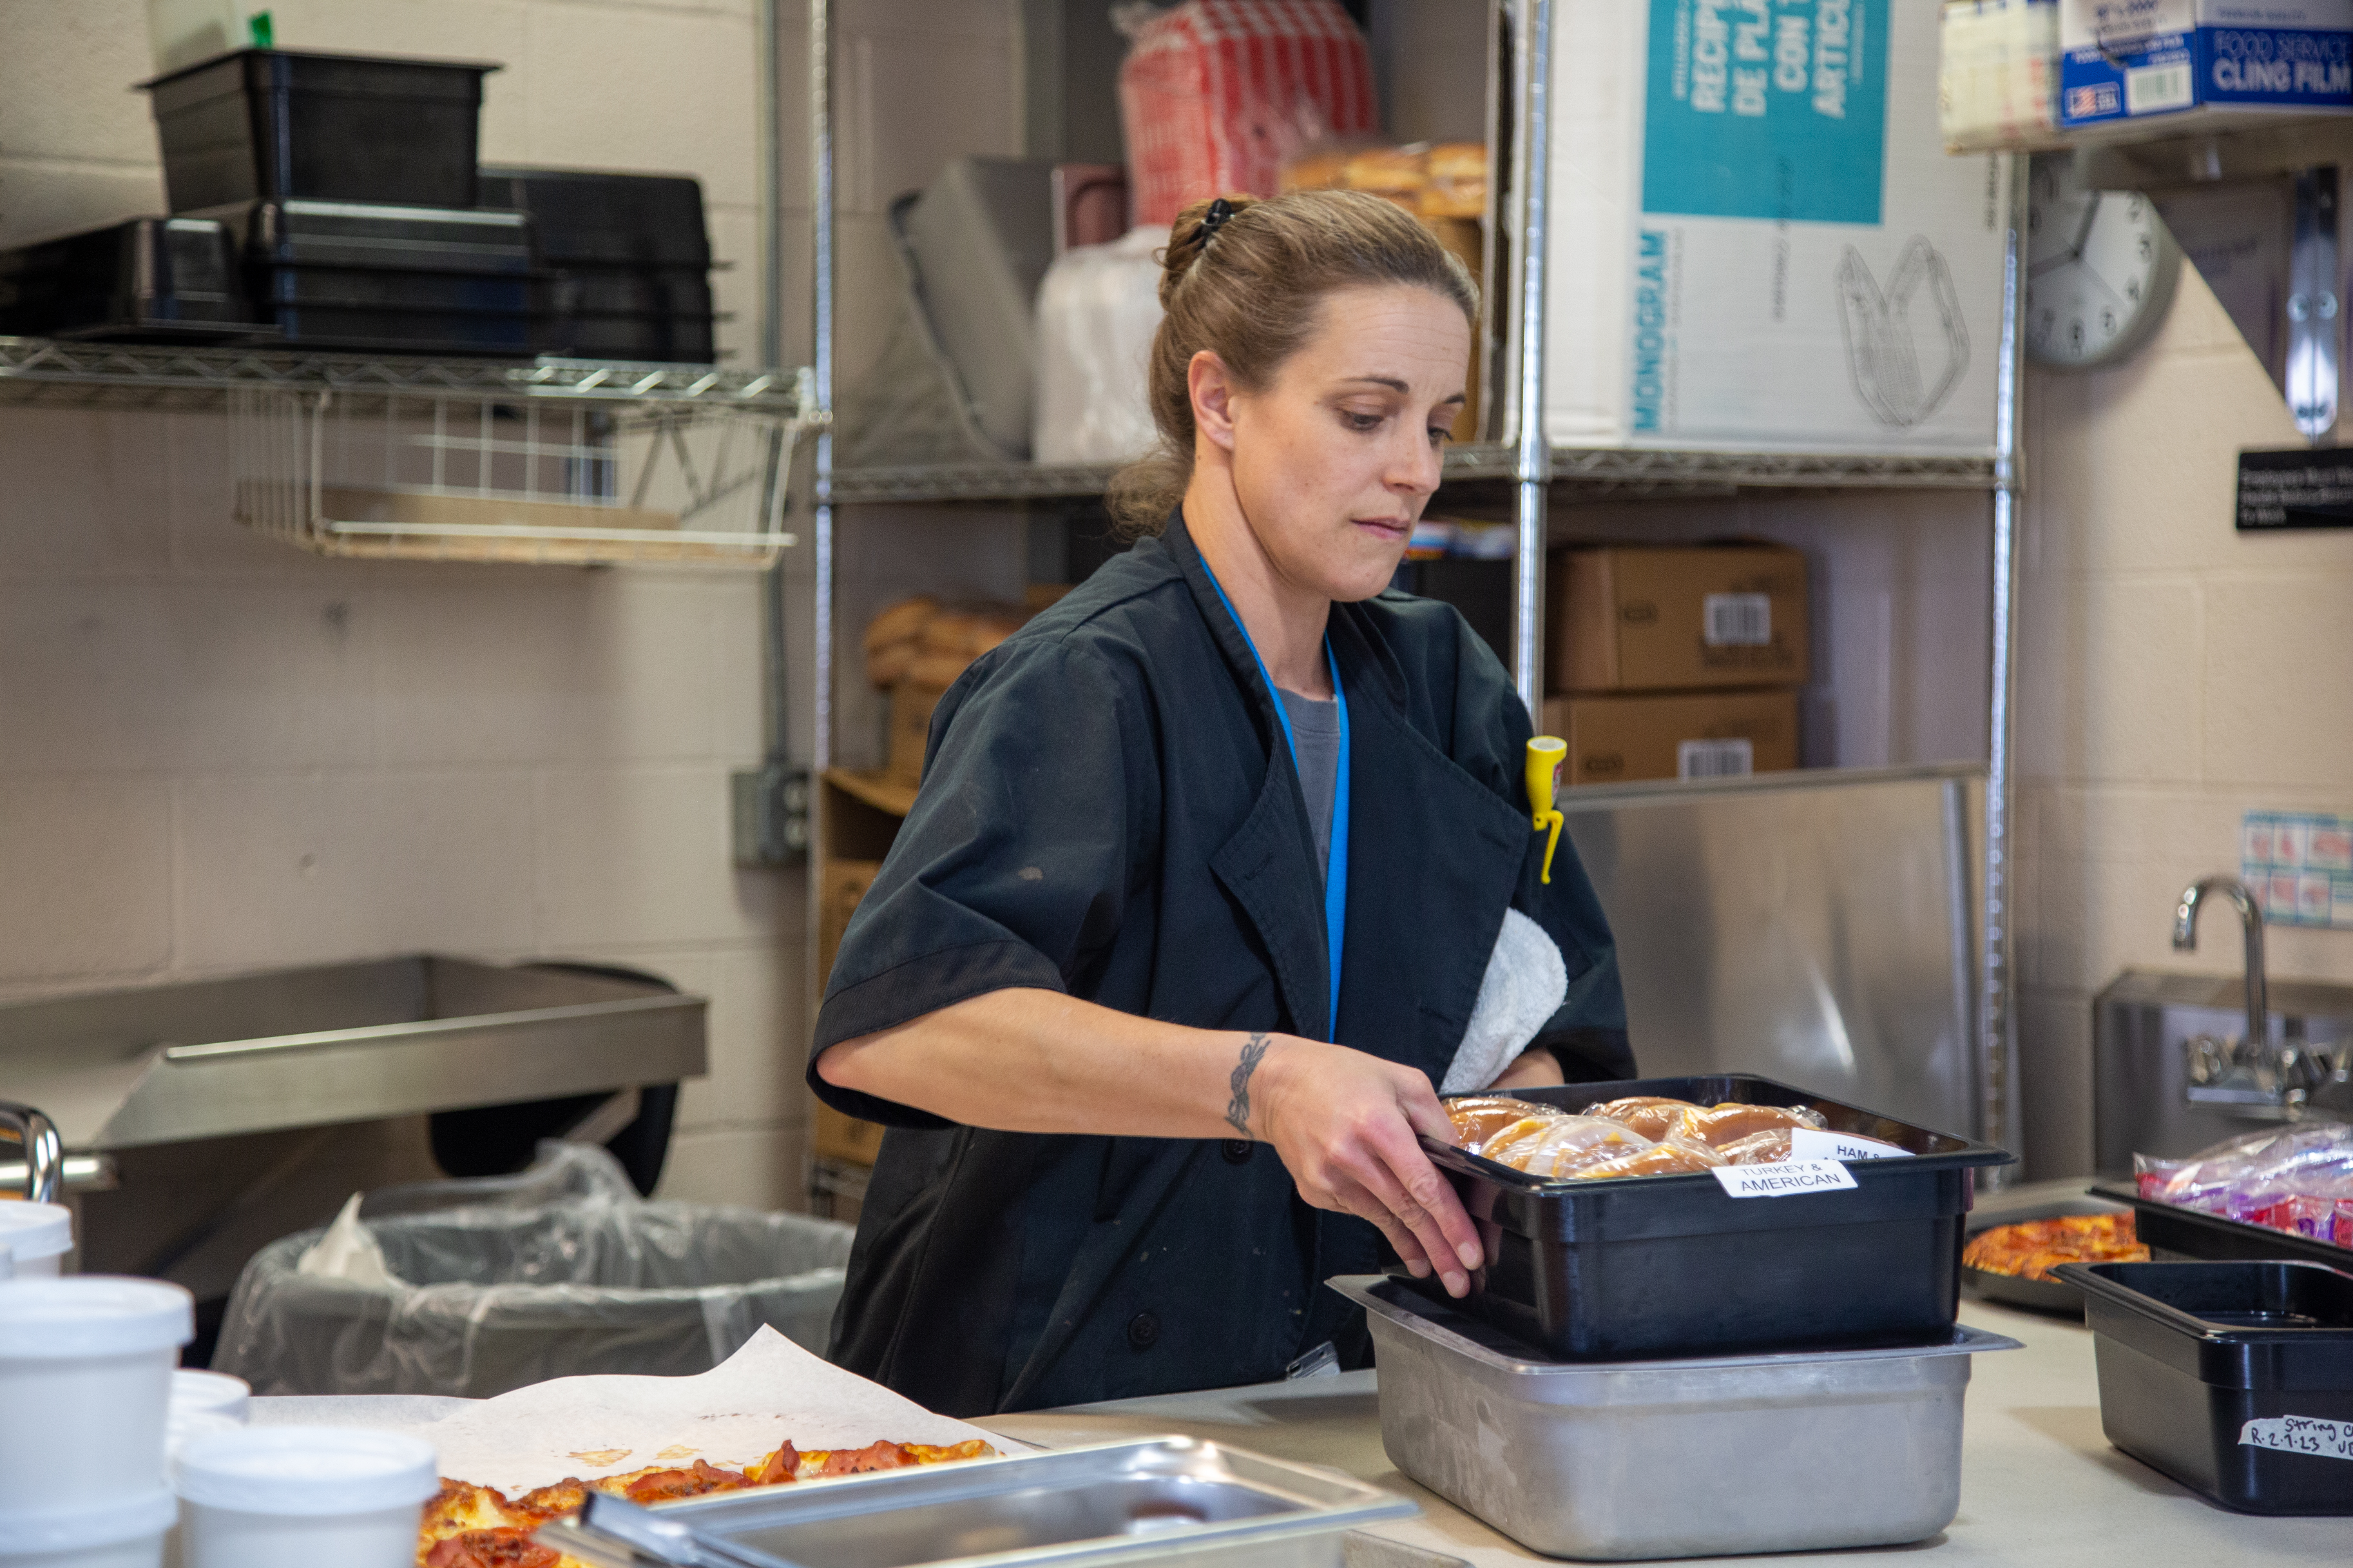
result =
[[744,1349],[694,1378],[555,1378],[431,1415],[421,1406],[412,1401],[400,1413],[409,1420],[327,1420],[421,1436],[440,1455],[440,1474],[508,1495],[565,1476],[595,1481],[647,1465],[708,1460],[741,1469],[786,1441],[809,1450],[864,1448],[880,1439],[946,1446],[976,1436],[998,1453],[1019,1448],[845,1373],[774,1328],[760,1328]]

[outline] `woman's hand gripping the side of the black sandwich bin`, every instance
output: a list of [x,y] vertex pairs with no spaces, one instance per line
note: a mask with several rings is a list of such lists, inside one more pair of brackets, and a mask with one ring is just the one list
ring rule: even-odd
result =
[[1426,1074],[1348,1046],[1252,1034],[1228,1119],[1275,1145],[1308,1206],[1372,1220],[1414,1279],[1435,1269],[1447,1295],[1468,1295],[1478,1229],[1414,1140],[1454,1140]]

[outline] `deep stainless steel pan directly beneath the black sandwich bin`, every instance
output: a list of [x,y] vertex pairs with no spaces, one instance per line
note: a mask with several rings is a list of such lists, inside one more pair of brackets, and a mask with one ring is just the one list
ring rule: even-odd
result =
[[1379,1274],[1334,1279],[1372,1319],[1398,1469],[1551,1556],[1885,1547],[1960,1507],[1969,1354],[1897,1349],[1546,1361]]

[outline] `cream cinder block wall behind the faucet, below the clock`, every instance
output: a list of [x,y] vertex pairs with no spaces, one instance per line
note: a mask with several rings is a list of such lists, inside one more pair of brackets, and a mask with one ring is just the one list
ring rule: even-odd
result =
[[[2238,451],[2301,437],[2191,266],[2141,353],[2028,376],[2026,437],[2019,1046],[2028,1175],[2068,1175],[2092,994],[2125,966],[2235,976],[2228,910],[2177,954],[2174,898],[2238,875],[2245,811],[2353,811],[2353,536],[2231,529]],[[2273,978],[2353,980],[2353,933],[2268,943]]]

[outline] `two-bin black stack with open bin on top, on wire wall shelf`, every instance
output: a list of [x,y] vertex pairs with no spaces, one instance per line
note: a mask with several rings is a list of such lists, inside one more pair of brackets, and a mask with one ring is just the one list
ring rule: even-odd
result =
[[292,346],[529,357],[532,223],[475,200],[492,71],[238,49],[155,78],[172,209],[228,226]]

